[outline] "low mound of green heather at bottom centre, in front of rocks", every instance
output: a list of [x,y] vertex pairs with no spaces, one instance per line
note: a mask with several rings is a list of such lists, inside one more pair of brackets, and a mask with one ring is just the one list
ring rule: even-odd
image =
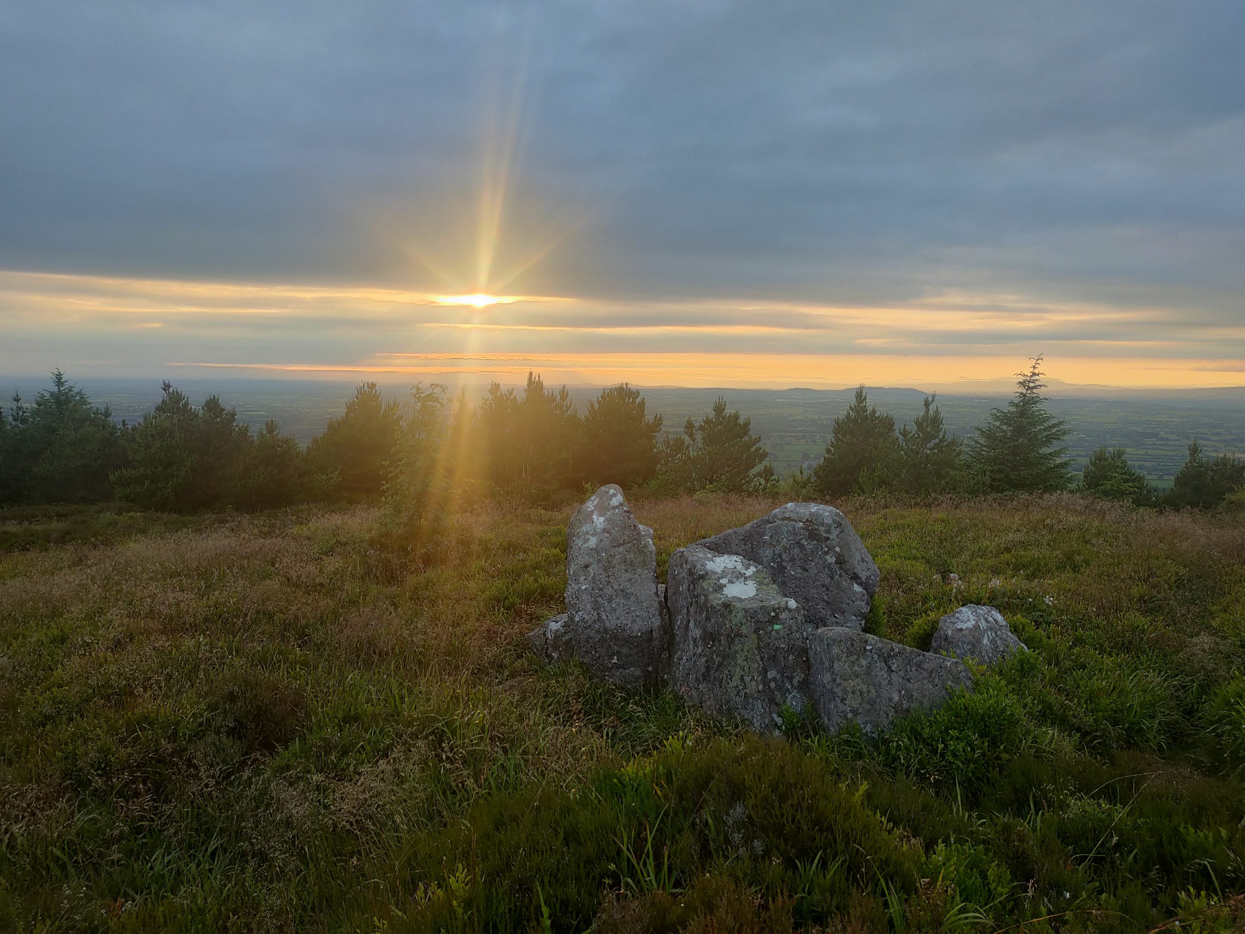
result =
[[[650,927],[635,929],[662,930],[671,909],[662,895],[692,893],[684,899],[690,915],[677,917],[721,908],[789,918],[798,898],[803,914],[825,920],[848,910],[849,883],[872,884],[879,872],[913,890],[914,864],[862,795],[822,763],[781,741],[746,737],[672,743],[603,770],[585,787],[491,796],[422,856],[417,874],[437,879],[442,867],[461,866],[487,879],[463,902],[482,928],[522,929],[548,913],[559,930],[579,930],[613,890],[630,899],[606,907],[611,924],[640,918]],[[703,878],[718,870],[733,882]]]

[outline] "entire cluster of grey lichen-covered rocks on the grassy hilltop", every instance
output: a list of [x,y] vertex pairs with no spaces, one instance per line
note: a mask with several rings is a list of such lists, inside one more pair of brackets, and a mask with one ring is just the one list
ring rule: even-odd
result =
[[652,529],[616,486],[566,528],[566,611],[529,640],[630,690],[672,687],[713,716],[771,732],[813,710],[867,732],[972,687],[961,659],[994,665],[1025,645],[991,606],[944,616],[931,649],[863,633],[878,565],[838,509],[788,503],[670,555],[657,583]]

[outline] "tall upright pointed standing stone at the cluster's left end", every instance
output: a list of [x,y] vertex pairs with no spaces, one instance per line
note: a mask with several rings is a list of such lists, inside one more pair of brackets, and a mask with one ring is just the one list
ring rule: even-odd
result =
[[657,595],[652,529],[613,483],[566,527],[566,623],[571,654],[594,675],[627,689],[661,684],[667,629]]

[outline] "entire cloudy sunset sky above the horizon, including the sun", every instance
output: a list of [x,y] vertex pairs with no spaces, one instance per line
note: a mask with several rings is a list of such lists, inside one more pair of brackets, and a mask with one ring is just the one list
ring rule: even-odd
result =
[[7,0],[0,374],[1245,385],[1243,37],[1239,0]]

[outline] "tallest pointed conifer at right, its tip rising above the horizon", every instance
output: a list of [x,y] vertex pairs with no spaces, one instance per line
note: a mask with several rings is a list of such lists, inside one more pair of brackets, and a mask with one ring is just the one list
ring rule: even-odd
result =
[[1016,394],[1006,408],[995,408],[969,446],[969,460],[994,493],[1067,489],[1072,465],[1062,442],[1068,426],[1046,408],[1042,357],[1017,374]]

